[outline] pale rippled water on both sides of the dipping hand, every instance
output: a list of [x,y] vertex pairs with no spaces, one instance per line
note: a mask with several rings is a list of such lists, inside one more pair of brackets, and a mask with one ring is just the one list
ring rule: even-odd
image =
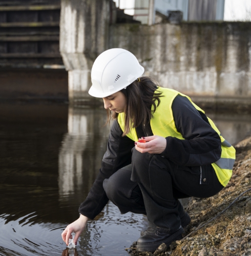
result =
[[1,214],[0,256],[126,256],[124,249],[138,239],[143,217],[133,213],[121,215],[111,202],[104,212],[101,217],[88,223],[75,251],[66,249],[61,238],[67,224],[31,222],[32,218],[36,219],[36,212],[16,219],[11,216],[12,220],[9,214]]

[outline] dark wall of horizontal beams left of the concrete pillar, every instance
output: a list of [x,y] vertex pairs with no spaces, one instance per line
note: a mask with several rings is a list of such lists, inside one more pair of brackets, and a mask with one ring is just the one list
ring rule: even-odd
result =
[[0,67],[61,67],[60,0],[0,0]]

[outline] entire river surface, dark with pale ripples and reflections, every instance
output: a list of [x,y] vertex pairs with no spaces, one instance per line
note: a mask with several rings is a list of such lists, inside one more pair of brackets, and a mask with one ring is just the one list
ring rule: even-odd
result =
[[[111,202],[75,251],[61,239],[98,174],[109,134],[104,110],[12,103],[0,113],[0,256],[126,256],[145,219]],[[208,116],[230,143],[251,130],[249,115]]]

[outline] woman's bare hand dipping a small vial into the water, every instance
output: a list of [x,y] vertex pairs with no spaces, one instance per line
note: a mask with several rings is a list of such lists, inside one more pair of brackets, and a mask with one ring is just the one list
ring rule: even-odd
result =
[[75,220],[66,227],[61,236],[67,246],[69,244],[69,239],[72,239],[72,232],[76,234],[74,237],[74,243],[75,245],[77,245],[80,234],[84,231],[87,221],[88,218],[81,214],[77,220]]

